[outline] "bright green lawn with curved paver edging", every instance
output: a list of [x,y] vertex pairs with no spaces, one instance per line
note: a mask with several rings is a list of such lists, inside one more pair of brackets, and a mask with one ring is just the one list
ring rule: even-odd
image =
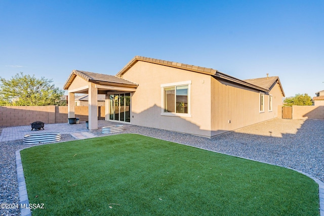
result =
[[134,134],[21,151],[33,215],[319,215],[299,172]]

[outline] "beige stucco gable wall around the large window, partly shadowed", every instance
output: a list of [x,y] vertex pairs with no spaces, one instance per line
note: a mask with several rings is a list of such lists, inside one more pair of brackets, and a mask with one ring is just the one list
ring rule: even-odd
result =
[[[132,94],[131,123],[199,136],[211,136],[211,76],[138,61],[124,75],[138,83]],[[161,84],[191,80],[191,117],[161,115]]]

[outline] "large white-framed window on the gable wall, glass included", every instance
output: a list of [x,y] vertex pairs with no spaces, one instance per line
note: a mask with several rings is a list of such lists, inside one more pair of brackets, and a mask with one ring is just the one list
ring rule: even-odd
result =
[[161,115],[190,116],[191,81],[162,84]]

